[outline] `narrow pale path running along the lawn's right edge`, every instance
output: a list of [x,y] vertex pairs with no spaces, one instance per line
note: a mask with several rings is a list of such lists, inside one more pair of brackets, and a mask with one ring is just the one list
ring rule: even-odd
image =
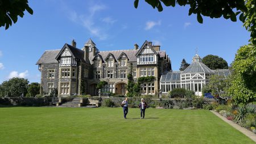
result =
[[229,125],[233,126],[233,128],[235,128],[238,131],[240,131],[241,133],[245,134],[247,137],[249,137],[254,142],[256,142],[256,135],[253,132],[251,132],[250,130],[247,130],[246,128],[241,127],[240,125],[236,124],[235,122],[226,119],[226,117],[221,116],[220,113],[217,113],[215,111],[210,111],[210,112],[212,112],[217,117],[221,118],[223,121],[225,121]]

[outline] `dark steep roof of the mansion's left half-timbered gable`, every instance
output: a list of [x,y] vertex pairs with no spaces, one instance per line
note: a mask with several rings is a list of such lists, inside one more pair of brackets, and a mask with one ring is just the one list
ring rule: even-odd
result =
[[77,58],[77,59],[81,60],[82,62],[85,62],[85,60],[84,60],[84,50],[75,48],[75,47],[73,47],[69,44],[64,44],[64,46],[60,50],[59,54],[57,54],[57,56],[55,58],[56,60],[60,60],[61,53],[63,52],[63,50],[65,48],[69,49],[69,52],[71,53],[73,58]]

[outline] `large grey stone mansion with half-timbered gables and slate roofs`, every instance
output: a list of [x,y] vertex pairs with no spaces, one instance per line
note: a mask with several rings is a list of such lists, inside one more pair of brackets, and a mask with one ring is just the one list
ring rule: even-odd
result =
[[61,97],[71,95],[98,95],[97,84],[108,84],[102,92],[127,93],[127,74],[136,81],[139,77],[154,76],[155,81],[141,85],[142,94],[157,94],[162,74],[171,71],[171,61],[160,45],[145,41],[129,50],[100,51],[89,39],[83,48],[76,42],[64,44],[57,50],[46,50],[38,62],[41,72],[40,94],[50,94],[57,89]]

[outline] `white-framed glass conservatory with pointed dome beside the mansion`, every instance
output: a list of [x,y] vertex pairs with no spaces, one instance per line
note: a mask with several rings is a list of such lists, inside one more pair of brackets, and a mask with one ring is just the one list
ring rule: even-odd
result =
[[209,82],[210,75],[230,75],[228,69],[211,70],[204,65],[199,55],[193,57],[191,65],[184,71],[170,71],[163,74],[160,78],[160,89],[163,94],[174,88],[185,88],[186,90],[195,91],[198,96],[202,95],[202,88]]

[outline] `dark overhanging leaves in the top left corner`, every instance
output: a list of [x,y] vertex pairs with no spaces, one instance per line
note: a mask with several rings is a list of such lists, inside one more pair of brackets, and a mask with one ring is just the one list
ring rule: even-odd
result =
[[23,18],[26,10],[33,14],[27,0],[0,0],[0,27],[8,29],[12,23],[17,22],[18,16]]

